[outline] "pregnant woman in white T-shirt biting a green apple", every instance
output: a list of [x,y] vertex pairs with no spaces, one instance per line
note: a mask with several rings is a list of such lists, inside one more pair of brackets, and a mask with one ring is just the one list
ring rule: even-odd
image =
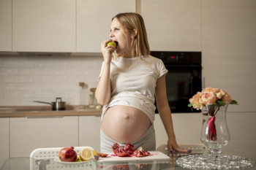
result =
[[[155,96],[170,151],[190,152],[176,143],[165,88],[167,69],[160,59],[150,55],[143,18],[137,13],[116,15],[110,38],[101,44],[104,62],[95,94],[104,106],[100,152],[112,152],[115,142],[123,147],[130,142],[135,150],[156,150]],[[108,45],[111,41],[117,46]]]

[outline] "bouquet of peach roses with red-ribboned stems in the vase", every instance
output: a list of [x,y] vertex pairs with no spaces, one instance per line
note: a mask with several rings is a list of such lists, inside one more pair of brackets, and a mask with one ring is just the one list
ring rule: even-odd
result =
[[217,140],[217,132],[215,128],[215,115],[219,111],[219,107],[224,107],[225,104],[237,104],[235,100],[224,90],[219,88],[204,88],[203,91],[197,92],[192,98],[189,98],[188,107],[193,107],[194,109],[206,110],[209,115],[208,119],[208,139],[212,141]]

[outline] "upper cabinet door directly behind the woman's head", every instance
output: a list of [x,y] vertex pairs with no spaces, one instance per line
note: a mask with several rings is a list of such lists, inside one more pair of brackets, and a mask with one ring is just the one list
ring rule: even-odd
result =
[[135,11],[135,0],[77,0],[77,52],[100,53],[101,42],[110,39],[113,16]]

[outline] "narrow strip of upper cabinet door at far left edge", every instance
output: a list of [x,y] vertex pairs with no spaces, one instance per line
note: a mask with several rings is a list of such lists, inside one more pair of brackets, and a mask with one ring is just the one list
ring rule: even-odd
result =
[[0,51],[12,51],[12,0],[0,1]]

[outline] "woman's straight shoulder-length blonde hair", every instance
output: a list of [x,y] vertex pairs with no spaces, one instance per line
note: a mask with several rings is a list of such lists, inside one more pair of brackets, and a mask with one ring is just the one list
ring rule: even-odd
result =
[[[150,48],[148,45],[148,36],[146,33],[146,27],[144,24],[144,20],[138,13],[135,12],[127,12],[127,13],[119,13],[113,19],[117,19],[119,23],[121,23],[122,28],[127,28],[129,33],[133,34],[134,29],[137,30],[137,35],[132,36],[132,43],[130,45],[132,50],[132,55],[138,56],[142,59],[142,56],[148,57],[150,54]],[[113,58],[117,59],[120,55],[114,53]]]

